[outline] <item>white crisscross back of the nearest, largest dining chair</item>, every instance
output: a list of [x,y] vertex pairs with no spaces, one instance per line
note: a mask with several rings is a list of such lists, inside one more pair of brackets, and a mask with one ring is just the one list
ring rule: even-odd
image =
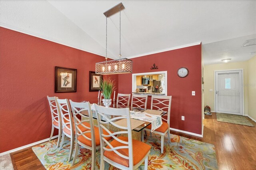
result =
[[[130,122],[130,110],[129,108],[123,108],[123,109],[114,109],[114,108],[106,108],[99,105],[95,105],[98,125],[99,125],[99,131],[100,131],[100,152],[101,155],[104,155],[105,151],[114,151],[118,156],[121,156],[124,159],[129,160],[129,167],[133,167],[133,153],[132,153],[132,130],[131,130],[131,122]],[[106,120],[106,121],[102,121]],[[117,125],[115,121],[126,119],[127,121],[127,127],[123,127],[120,125]],[[122,131],[116,131],[116,132],[110,132],[108,128],[106,128],[104,125],[111,123],[114,127],[122,129]],[[108,132],[109,135],[103,134],[103,129]],[[119,139],[116,137],[116,135],[120,134],[128,134],[128,142]],[[114,147],[112,146],[104,137],[112,137],[118,142],[124,144],[122,146]],[[110,148],[106,148],[105,145],[109,146]],[[122,153],[118,152],[118,149],[128,149],[128,153],[131,156],[125,156]],[[108,159],[105,156],[103,156],[104,160]],[[111,160],[108,160],[107,162],[111,162]],[[117,160],[118,162],[118,160]]]

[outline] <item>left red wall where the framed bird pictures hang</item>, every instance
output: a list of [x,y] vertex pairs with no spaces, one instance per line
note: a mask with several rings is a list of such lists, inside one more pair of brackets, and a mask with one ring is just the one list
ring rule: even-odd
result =
[[[0,37],[0,153],[50,137],[46,95],[97,102],[89,71],[104,57],[2,27]],[[76,93],[54,93],[55,66],[77,69]]]

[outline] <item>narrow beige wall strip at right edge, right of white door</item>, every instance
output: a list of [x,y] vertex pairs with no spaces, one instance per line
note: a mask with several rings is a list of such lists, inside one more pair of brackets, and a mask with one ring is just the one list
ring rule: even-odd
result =
[[256,56],[248,60],[248,115],[256,120]]

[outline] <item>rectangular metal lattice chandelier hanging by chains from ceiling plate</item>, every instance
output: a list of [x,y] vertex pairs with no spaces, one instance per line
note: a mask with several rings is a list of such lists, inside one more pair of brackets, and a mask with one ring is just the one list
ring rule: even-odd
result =
[[[96,63],[95,67],[95,73],[96,74],[121,74],[121,73],[132,73],[132,60],[127,59],[127,58],[122,58],[121,59],[121,10],[124,9],[124,6],[122,2],[110,10],[104,12],[104,15],[106,16],[106,61]],[[107,26],[108,26],[108,17],[116,14],[119,12],[120,14],[120,20],[119,20],[119,57],[120,59],[116,60],[110,60],[107,61],[108,56],[107,56]]]

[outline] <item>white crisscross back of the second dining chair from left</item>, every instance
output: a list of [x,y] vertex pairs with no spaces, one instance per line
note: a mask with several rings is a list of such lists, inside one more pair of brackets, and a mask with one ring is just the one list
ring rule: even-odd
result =
[[62,120],[62,129],[66,128],[70,130],[70,134],[66,134],[66,136],[70,137],[74,135],[74,125],[72,121],[72,113],[70,109],[70,104],[68,102],[68,99],[57,99],[57,102],[60,107],[60,115],[61,115],[61,120]]

